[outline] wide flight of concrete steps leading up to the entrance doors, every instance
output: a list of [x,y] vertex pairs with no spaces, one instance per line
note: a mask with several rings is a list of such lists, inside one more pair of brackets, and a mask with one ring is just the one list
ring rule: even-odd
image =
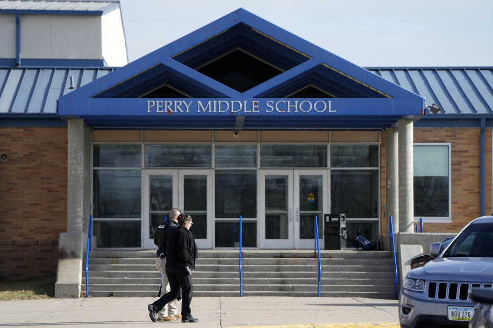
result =
[[[154,297],[161,283],[155,251],[94,251],[89,255],[89,294]],[[239,296],[237,250],[199,251],[195,296]],[[388,252],[323,251],[320,296],[394,298],[393,258]],[[242,252],[244,296],[317,294],[318,258],[309,250]],[[83,290],[85,290],[83,272]]]

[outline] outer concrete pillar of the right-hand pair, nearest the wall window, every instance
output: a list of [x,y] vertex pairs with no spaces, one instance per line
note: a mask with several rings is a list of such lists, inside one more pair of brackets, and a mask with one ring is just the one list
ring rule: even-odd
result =
[[403,118],[399,126],[399,232],[411,232],[414,222],[413,122]]

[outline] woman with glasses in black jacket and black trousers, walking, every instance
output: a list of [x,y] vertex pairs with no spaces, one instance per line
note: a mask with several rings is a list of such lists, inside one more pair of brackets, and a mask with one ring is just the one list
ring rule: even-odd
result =
[[194,235],[189,231],[192,227],[192,217],[183,215],[178,217],[179,228],[169,234],[166,242],[166,276],[169,281],[170,292],[147,306],[150,320],[156,322],[157,312],[164,305],[178,297],[180,287],[183,293],[181,304],[181,322],[198,322],[192,316],[190,302],[193,297],[194,285],[192,273],[195,270],[197,258],[197,244]]

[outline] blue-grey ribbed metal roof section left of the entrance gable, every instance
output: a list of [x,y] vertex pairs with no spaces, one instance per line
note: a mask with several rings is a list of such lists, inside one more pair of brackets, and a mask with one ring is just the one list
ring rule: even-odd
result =
[[[115,68],[0,67],[0,115],[56,114],[56,100]],[[71,89],[70,77],[73,77]]]

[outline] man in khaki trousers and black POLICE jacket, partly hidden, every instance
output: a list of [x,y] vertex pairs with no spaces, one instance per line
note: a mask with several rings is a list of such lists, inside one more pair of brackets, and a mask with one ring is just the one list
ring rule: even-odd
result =
[[[166,276],[166,241],[169,234],[179,227],[178,215],[180,214],[180,210],[176,208],[169,211],[169,218],[156,229],[156,234],[154,235],[154,243],[158,247],[156,251],[156,268],[161,273],[160,297],[171,290],[169,288],[168,277]],[[176,319],[181,319],[181,315],[177,314],[176,299],[174,299],[164,305],[163,309],[159,311],[158,321],[175,321]]]

